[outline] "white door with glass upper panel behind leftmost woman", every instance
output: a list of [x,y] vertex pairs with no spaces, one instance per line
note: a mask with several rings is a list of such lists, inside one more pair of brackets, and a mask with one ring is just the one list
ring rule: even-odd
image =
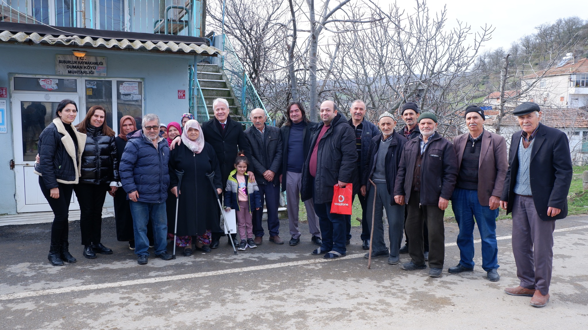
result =
[[[35,156],[39,134],[55,118],[55,110],[61,100],[74,100],[79,108],[78,94],[65,93],[13,93],[12,134],[14,139],[14,173],[16,176],[16,212],[51,211],[39,188],[39,176],[35,169]],[[83,111],[78,112],[74,124],[79,123]],[[69,210],[79,210],[75,194]]]

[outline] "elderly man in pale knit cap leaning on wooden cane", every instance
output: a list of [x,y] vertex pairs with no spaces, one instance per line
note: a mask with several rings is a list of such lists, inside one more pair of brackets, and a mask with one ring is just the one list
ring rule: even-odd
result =
[[[405,206],[396,204],[392,193],[394,192],[394,183],[398,163],[400,163],[400,154],[406,143],[406,137],[396,133],[396,120],[392,113],[385,112],[380,115],[378,126],[382,133],[373,137],[368,150],[368,166],[362,173],[361,177],[361,194],[368,197],[367,218],[363,218],[368,224],[368,230],[372,228],[373,221],[373,240],[372,258],[389,257],[388,263],[397,264],[400,260],[400,243],[402,243],[402,231],[405,221]],[[368,181],[371,179],[376,184],[376,189]],[[376,207],[374,206],[374,199]],[[384,225],[382,223],[383,208],[386,209],[388,220],[388,238],[390,240],[390,251],[384,241]],[[375,210],[375,213],[374,211]],[[369,258],[369,253],[366,253]]]

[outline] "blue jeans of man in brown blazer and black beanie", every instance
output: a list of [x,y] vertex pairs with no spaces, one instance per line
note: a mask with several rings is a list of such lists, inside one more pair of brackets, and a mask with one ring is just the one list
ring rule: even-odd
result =
[[498,265],[498,244],[496,241],[496,217],[498,208],[490,210],[480,205],[477,190],[455,188],[451,197],[451,206],[455,220],[459,226],[457,247],[459,247],[459,263],[463,267],[474,267],[474,217],[482,238],[482,268],[485,271],[495,270]]

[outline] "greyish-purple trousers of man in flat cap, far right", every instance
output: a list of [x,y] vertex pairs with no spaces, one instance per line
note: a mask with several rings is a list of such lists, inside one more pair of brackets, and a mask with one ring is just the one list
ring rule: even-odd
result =
[[555,220],[541,220],[531,196],[515,195],[512,215],[513,255],[520,286],[546,295],[553,270]]

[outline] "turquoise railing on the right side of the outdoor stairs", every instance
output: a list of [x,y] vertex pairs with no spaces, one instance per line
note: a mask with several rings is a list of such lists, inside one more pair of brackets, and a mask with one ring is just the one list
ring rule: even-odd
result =
[[[272,120],[269,118],[268,111],[265,109],[261,97],[259,97],[257,90],[255,90],[253,83],[247,76],[230,39],[226,35],[223,35],[223,52],[225,55],[221,60],[221,68],[229,80],[236,99],[240,100],[243,117],[248,120],[251,110],[261,108],[268,117],[267,124],[272,124]],[[246,126],[251,124],[250,121],[243,123]]]

